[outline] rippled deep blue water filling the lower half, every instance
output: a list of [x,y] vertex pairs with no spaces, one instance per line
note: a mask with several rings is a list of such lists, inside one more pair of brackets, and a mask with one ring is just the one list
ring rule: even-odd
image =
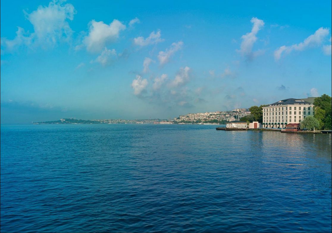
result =
[[331,232],[331,135],[1,125],[1,232]]

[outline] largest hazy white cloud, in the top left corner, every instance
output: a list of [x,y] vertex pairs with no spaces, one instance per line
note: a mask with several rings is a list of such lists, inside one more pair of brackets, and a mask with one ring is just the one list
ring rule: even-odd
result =
[[39,6],[37,10],[26,13],[26,18],[34,27],[33,33],[26,33],[18,27],[13,40],[2,38],[2,46],[13,49],[20,45],[47,45],[53,46],[58,41],[71,39],[72,29],[68,20],[73,20],[76,10],[72,4],[63,4],[63,1],[52,1],[48,6]]

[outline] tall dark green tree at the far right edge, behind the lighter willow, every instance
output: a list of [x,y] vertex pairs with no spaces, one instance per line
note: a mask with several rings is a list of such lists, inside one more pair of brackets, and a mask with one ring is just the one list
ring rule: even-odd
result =
[[327,94],[323,94],[320,97],[315,98],[313,101],[313,104],[315,105],[315,114],[317,107],[321,108],[325,111],[325,117],[322,119],[322,122],[324,123],[324,129],[330,130],[332,128],[331,123],[331,116],[332,116],[332,98],[331,96]]

